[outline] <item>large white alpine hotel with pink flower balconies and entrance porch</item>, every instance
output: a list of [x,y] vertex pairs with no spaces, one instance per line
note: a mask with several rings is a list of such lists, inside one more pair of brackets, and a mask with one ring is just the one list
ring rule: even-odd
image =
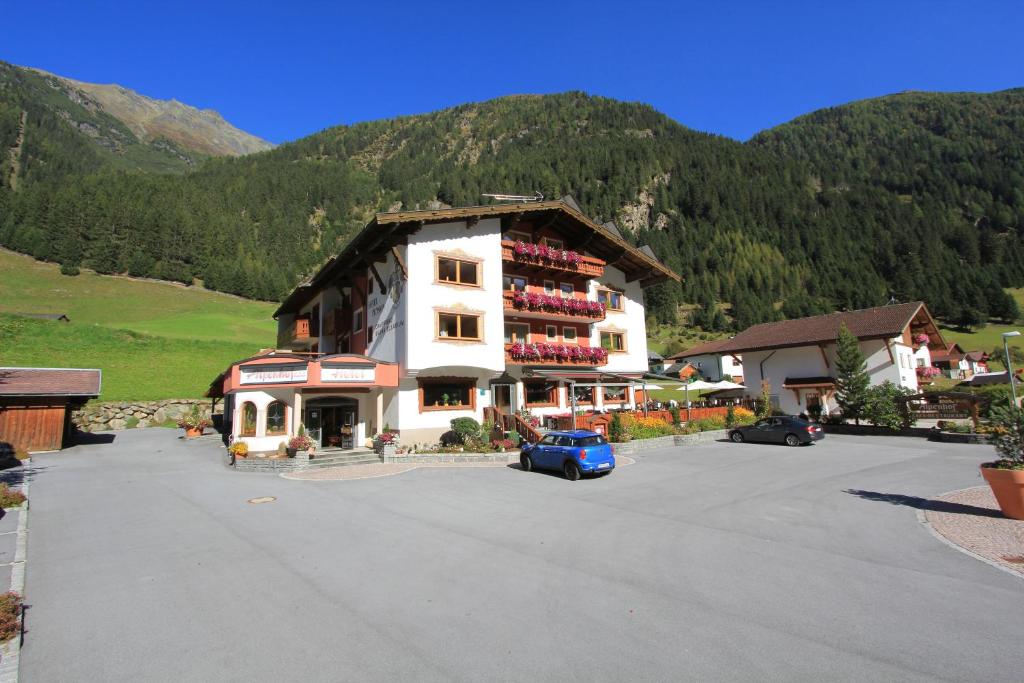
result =
[[[278,308],[279,349],[233,364],[226,432],[256,451],[452,419],[633,405],[648,371],[644,289],[679,280],[568,201],[377,214]],[[219,389],[218,389],[219,387]]]

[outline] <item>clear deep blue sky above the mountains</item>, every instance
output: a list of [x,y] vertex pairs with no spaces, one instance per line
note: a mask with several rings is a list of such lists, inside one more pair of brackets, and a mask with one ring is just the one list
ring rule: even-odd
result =
[[220,112],[274,142],[523,92],[738,139],[900,90],[1024,86],[1024,1],[0,0],[0,59]]

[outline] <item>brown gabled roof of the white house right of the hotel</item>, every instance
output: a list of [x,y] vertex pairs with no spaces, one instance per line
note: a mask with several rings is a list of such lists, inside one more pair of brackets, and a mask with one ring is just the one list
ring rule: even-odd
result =
[[876,306],[860,310],[849,310],[825,315],[798,317],[779,323],[763,323],[743,330],[718,348],[721,353],[739,353],[793,346],[814,346],[828,344],[839,338],[842,325],[857,339],[887,339],[898,337],[910,322],[923,312],[934,328],[934,336],[942,340],[938,326],[921,301],[898,303],[891,306]]

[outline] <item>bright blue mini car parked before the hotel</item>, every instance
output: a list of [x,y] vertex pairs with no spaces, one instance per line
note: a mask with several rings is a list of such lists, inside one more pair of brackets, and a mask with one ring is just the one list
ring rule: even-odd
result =
[[575,481],[583,474],[607,474],[615,469],[615,457],[606,438],[578,429],[548,432],[537,443],[523,443],[519,464],[526,472],[556,470]]

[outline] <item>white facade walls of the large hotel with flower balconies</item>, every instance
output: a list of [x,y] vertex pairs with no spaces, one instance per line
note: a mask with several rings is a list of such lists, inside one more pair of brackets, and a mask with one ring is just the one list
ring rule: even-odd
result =
[[[558,241],[538,234],[535,230],[535,239]],[[549,378],[535,372],[535,366],[556,373],[601,371],[639,377],[647,372],[644,299],[639,280],[627,282],[626,273],[612,265],[605,265],[600,276],[590,279],[571,270],[560,274],[557,267],[530,270],[536,278],[530,275],[528,288],[550,278],[559,296],[589,301],[598,301],[599,291],[610,290],[621,296],[622,310],[608,309],[603,319],[592,323],[581,316],[545,317],[546,314],[536,311],[524,314],[521,310],[510,310],[506,307],[505,276],[520,272],[516,268],[522,267],[510,260],[507,247],[503,255],[502,242],[510,239],[519,238],[504,234],[499,217],[427,222],[411,231],[401,244],[374,254],[373,269],[366,262],[357,262],[344,284],[335,279],[306,297],[296,314],[279,317],[282,331],[279,338],[288,334],[297,316],[317,318],[318,335],[304,340],[303,349],[319,354],[364,354],[397,366],[396,388],[375,389],[369,394],[346,393],[343,389],[334,394],[323,386],[316,388],[315,396],[321,401],[345,396],[355,400],[357,445],[384,427],[397,430],[406,444],[435,443],[440,434],[451,429],[453,419],[471,417],[482,423],[484,409],[495,404],[509,412],[525,408],[536,416],[567,414],[571,407],[569,380]],[[571,243],[559,247],[572,248]],[[589,256],[586,250],[581,253]],[[438,274],[439,258],[475,264],[475,282],[467,285],[445,281]],[[561,291],[565,284],[570,286],[570,292]],[[467,339],[462,338],[461,332],[455,336],[447,334],[446,328],[442,332],[441,315],[445,319],[458,315],[460,321],[472,317],[477,322],[478,334]],[[356,322],[361,323],[359,330]],[[617,335],[622,335],[624,348],[609,352],[606,362],[590,366],[579,361],[515,360],[507,351],[507,325],[522,327],[523,331],[516,334],[526,334],[535,343],[550,342],[546,335],[548,326],[553,326],[556,343],[564,346],[597,347],[602,332],[615,335],[616,341]],[[444,388],[456,384],[457,391]],[[552,387],[548,394],[551,399],[539,400],[539,391],[548,385]],[[261,393],[239,392],[234,404],[253,400],[264,405],[273,399],[269,393],[266,396]],[[298,387],[292,391],[275,389],[274,395],[278,393],[282,394],[280,398],[291,401],[290,426],[297,429],[308,412],[301,402],[309,396],[301,397],[302,389]],[[601,410],[635,404],[628,381],[605,379],[601,386],[594,387],[593,394],[592,400],[579,407]],[[527,400],[527,395],[532,401]],[[259,414],[262,416],[262,409]],[[266,436],[258,430],[255,436],[247,438],[250,447],[256,451],[275,449],[280,440],[279,436]]]

